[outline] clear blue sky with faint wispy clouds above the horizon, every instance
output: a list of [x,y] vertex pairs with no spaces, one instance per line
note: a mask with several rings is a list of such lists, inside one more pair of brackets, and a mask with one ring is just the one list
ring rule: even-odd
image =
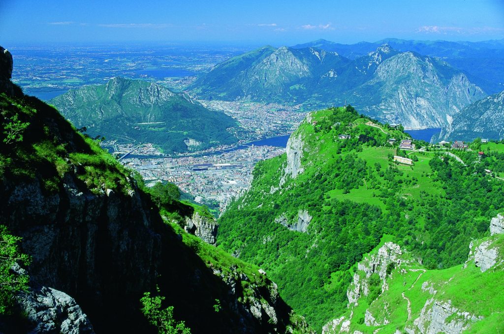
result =
[[504,38],[504,0],[0,1],[0,44]]

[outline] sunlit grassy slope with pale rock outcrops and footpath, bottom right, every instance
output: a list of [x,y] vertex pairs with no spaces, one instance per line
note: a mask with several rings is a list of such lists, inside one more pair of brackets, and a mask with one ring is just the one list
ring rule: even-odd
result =
[[324,332],[502,332],[503,218],[492,218],[491,236],[471,242],[463,265],[443,270],[426,270],[399,245],[381,243],[353,275],[348,310]]

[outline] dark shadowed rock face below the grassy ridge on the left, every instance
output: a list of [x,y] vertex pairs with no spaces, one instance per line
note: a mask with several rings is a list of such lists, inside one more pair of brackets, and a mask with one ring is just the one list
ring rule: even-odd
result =
[[154,289],[161,257],[156,220],[136,186],[129,194],[97,195],[73,172],[56,193],[41,185],[37,179],[0,183],[0,217],[23,238],[30,279],[71,294],[94,316],[111,303],[117,315],[130,312],[128,301]]

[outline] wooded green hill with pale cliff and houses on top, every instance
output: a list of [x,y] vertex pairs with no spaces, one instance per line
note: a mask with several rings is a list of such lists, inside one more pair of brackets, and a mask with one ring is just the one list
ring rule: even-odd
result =
[[256,165],[251,188],[220,217],[217,243],[265,268],[318,330],[343,313],[356,264],[385,234],[426,268],[462,263],[501,207],[504,184],[441,151],[397,164],[401,138],[409,136],[351,107],[308,114],[285,154]]

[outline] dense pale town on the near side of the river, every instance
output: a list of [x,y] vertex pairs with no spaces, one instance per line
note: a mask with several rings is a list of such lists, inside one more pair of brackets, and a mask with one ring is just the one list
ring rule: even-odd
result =
[[[113,145],[121,163],[138,171],[147,185],[159,181],[176,184],[191,194],[195,202],[219,212],[228,201],[245,191],[252,179],[252,170],[260,160],[285,152],[284,147],[255,146],[220,154],[162,156],[152,144]],[[125,153],[131,152],[128,155]],[[158,155],[158,156],[156,156]]]

